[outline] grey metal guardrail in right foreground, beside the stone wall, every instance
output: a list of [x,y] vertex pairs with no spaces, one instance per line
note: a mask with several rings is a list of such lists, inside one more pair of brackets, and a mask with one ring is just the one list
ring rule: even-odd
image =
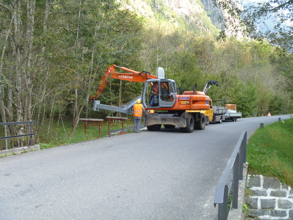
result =
[[[232,201],[230,209],[238,208],[238,186],[239,180],[243,180],[243,164],[246,163],[246,141],[247,132],[242,132],[237,145],[228,161],[228,164],[218,182],[214,198],[214,206],[218,204],[217,220],[227,220],[228,218],[228,199],[232,190]],[[231,170],[233,173],[230,177]],[[230,182],[227,182],[230,177]],[[242,207],[239,207],[242,209]]]

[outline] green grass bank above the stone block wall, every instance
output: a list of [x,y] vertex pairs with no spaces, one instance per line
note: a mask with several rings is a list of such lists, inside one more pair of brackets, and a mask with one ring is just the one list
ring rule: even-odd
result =
[[293,187],[293,118],[259,128],[247,145],[251,175],[276,177]]

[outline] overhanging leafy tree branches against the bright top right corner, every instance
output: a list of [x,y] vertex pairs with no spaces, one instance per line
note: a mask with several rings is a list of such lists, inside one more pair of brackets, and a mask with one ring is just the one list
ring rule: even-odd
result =
[[[239,23],[228,22],[230,30],[239,30],[239,26],[248,35],[257,38],[269,39],[274,45],[293,49],[293,0],[261,0],[242,7],[235,0],[213,0],[214,5],[220,5],[222,10],[230,14]],[[259,24],[269,18],[275,18],[273,30],[261,32]],[[235,26],[237,25],[237,27]],[[234,32],[234,35],[236,33]]]

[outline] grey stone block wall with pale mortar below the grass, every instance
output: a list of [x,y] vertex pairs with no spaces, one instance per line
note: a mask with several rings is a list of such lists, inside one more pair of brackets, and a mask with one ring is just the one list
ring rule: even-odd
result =
[[293,220],[293,189],[278,179],[248,176],[247,220]]

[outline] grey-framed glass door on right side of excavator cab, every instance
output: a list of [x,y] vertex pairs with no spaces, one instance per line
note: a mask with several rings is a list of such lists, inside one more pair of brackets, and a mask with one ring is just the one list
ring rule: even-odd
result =
[[173,87],[171,81],[160,80],[159,84],[159,107],[172,108],[175,104],[176,88]]

